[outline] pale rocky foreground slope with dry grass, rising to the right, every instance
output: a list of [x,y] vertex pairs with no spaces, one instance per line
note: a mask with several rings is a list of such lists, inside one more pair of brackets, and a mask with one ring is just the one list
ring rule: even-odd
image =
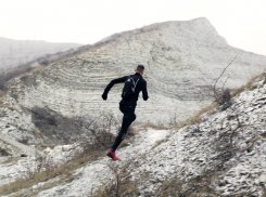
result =
[[[197,123],[179,130],[141,130],[129,146],[117,150],[119,161],[100,158],[73,172],[77,176],[72,182],[39,192],[38,196],[93,196],[98,188],[116,183],[111,168],[128,175],[121,180],[122,184],[131,181],[127,187],[136,181],[138,196],[160,196],[162,192],[179,196],[263,196],[265,120],[264,75],[233,97],[227,109],[214,108]],[[43,185],[33,186],[28,194]],[[122,196],[126,194],[121,191]]]

